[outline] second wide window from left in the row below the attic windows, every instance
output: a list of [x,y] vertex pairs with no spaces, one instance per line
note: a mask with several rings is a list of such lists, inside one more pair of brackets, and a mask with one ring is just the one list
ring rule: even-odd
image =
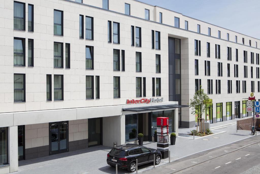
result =
[[54,35],[63,35],[63,11],[54,10]]

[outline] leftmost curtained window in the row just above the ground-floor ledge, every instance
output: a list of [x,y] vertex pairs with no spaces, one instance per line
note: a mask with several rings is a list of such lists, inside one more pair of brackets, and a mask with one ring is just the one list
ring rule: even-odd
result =
[[25,101],[25,74],[14,74],[14,102]]

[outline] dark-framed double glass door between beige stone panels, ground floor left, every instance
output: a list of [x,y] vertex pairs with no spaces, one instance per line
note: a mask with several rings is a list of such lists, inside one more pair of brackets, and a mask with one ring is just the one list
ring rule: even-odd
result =
[[68,151],[68,121],[50,123],[50,155]]

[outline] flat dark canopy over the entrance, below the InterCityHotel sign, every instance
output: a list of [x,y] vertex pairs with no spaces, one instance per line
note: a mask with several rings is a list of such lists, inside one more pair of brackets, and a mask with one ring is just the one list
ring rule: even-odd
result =
[[131,112],[142,112],[142,111],[156,111],[162,109],[174,109],[180,107],[189,107],[188,105],[161,105],[161,106],[147,106],[147,107],[133,107],[133,108],[123,108],[123,111]]

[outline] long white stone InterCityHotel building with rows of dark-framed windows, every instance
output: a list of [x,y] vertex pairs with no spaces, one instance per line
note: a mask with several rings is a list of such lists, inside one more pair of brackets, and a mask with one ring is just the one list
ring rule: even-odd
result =
[[247,116],[245,98],[260,98],[258,42],[135,0],[5,0],[0,173],[138,133],[153,141],[161,116],[178,135],[196,124],[185,105],[200,85],[208,122]]

